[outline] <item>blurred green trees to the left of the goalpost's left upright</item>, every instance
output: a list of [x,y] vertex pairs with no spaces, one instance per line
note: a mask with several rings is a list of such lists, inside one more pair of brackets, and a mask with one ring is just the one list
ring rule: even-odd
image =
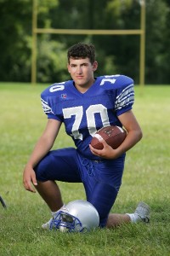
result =
[[0,80],[29,81],[31,65],[31,5],[0,1]]

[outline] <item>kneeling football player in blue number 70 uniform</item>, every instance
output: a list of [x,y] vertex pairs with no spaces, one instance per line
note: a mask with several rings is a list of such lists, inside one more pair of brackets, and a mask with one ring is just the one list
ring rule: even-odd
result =
[[[87,201],[99,212],[99,227],[147,222],[150,207],[143,202],[132,214],[110,213],[122,183],[125,154],[142,138],[132,111],[133,79],[124,75],[94,77],[98,62],[93,44],[75,44],[68,49],[67,57],[71,80],[42,91],[42,108],[48,122],[23,174],[26,190],[36,192],[35,187],[51,210],[52,218],[42,228],[50,227],[64,205],[56,181],[83,183]],[[50,150],[61,124],[76,147]],[[105,141],[103,149],[93,148],[90,142],[94,133],[107,125],[123,126],[126,139],[116,149]]]

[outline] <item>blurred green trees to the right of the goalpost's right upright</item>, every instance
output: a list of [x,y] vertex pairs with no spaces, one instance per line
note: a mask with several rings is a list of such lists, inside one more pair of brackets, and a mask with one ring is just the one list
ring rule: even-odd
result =
[[146,17],[146,82],[169,84],[170,3],[147,1]]

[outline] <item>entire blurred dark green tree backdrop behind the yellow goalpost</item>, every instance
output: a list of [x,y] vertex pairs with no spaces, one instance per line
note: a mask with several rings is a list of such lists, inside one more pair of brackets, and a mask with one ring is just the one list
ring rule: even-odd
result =
[[[37,27],[139,29],[139,0],[37,0]],[[145,84],[170,84],[170,1],[145,1]],[[31,82],[31,0],[0,0],[0,81]],[[37,34],[37,82],[68,79],[67,49],[93,43],[96,75],[123,73],[139,83],[139,35]]]

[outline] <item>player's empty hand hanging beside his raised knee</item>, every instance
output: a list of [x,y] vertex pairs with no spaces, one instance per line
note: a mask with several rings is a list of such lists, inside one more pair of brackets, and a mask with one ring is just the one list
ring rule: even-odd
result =
[[37,186],[37,179],[34,170],[30,167],[26,167],[23,173],[23,184],[26,190],[36,193],[33,189],[32,184]]

